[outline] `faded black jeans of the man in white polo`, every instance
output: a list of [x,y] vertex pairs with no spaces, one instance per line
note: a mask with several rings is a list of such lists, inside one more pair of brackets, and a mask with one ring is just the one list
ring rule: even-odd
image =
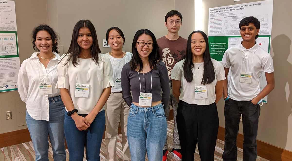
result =
[[229,98],[225,101],[225,145],[222,158],[224,161],[237,160],[237,135],[242,115],[243,125],[243,160],[254,161],[257,158],[256,136],[258,135],[258,118],[260,105],[251,101],[236,101]]

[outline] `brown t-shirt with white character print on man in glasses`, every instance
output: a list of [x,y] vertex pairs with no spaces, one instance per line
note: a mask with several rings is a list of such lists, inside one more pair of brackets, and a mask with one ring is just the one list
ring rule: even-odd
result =
[[168,70],[168,78],[171,79],[171,72],[175,63],[185,59],[187,51],[187,39],[179,37],[177,40],[169,40],[165,36],[157,39],[159,56]]

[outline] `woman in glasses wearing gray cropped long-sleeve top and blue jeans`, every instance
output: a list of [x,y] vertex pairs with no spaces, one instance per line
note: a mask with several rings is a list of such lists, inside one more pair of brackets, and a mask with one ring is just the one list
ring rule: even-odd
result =
[[145,160],[146,150],[149,161],[162,160],[167,135],[164,105],[170,95],[168,72],[159,61],[156,38],[150,30],[136,32],[132,52],[133,59],[121,72],[123,98],[131,107],[127,129],[131,160]]

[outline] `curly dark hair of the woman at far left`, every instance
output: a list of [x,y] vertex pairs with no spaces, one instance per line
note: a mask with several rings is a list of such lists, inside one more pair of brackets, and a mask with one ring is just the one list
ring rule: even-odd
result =
[[56,52],[56,53],[59,54],[59,51],[58,51],[58,35],[55,33],[55,31],[50,26],[48,26],[46,24],[39,25],[39,26],[35,27],[32,30],[32,48],[34,48],[35,51],[39,52],[39,49],[36,47],[36,43],[35,43],[36,34],[39,31],[47,31],[51,35],[51,39],[53,41],[52,52]]

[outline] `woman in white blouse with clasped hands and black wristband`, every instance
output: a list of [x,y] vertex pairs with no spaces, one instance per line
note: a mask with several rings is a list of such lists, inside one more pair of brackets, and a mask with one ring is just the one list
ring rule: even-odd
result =
[[64,131],[69,160],[100,160],[105,130],[104,105],[111,87],[112,64],[101,54],[95,28],[89,20],[74,26],[68,52],[58,64],[58,83],[66,107]]

